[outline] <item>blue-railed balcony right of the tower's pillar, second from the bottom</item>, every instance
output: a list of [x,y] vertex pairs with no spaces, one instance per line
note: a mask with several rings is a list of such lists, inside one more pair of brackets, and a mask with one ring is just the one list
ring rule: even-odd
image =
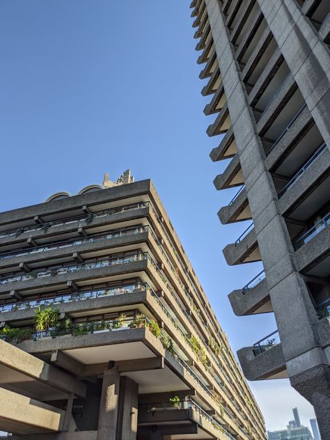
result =
[[330,276],[330,213],[293,242],[299,272],[308,276]]

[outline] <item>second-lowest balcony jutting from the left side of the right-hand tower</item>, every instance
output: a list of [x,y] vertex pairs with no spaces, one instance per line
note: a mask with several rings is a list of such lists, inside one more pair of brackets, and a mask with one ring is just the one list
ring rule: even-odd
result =
[[233,290],[228,298],[233,312],[237,316],[256,315],[273,311],[265,278],[249,290]]

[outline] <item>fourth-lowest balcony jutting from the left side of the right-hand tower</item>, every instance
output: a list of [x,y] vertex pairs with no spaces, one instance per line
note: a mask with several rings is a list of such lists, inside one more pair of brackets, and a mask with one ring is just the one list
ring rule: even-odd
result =
[[228,206],[221,207],[218,217],[223,225],[252,218],[245,187],[239,189]]

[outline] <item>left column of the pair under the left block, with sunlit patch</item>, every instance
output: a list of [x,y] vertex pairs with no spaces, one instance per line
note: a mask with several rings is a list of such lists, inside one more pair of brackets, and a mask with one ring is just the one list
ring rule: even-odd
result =
[[118,367],[104,370],[97,440],[116,440],[120,375]]

